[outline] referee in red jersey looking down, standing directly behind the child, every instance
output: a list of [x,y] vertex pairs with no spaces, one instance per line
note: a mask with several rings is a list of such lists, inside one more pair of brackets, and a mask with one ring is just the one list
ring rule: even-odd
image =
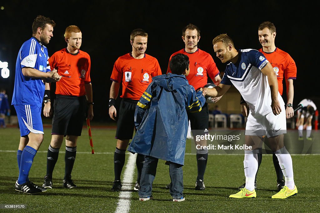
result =
[[[201,87],[204,87],[208,83],[208,76],[212,81],[218,85],[221,81],[219,70],[213,61],[212,56],[198,48],[198,42],[200,40],[200,29],[193,25],[189,24],[182,29],[182,40],[185,43],[185,47],[178,52],[173,53],[169,59],[169,65],[167,73],[171,72],[170,70],[170,60],[172,56],[177,55],[178,53],[185,54],[189,57],[190,61],[190,74],[186,77],[189,84],[192,85],[196,90]],[[221,97],[213,98],[213,102],[216,102]],[[191,130],[205,130],[209,129],[209,111],[207,103],[204,104],[202,110],[197,113],[188,112],[188,119],[190,120]],[[195,133],[194,133],[195,134]],[[196,142],[196,145],[206,146],[207,141]],[[197,149],[197,167],[198,175],[196,178],[196,190],[204,190],[204,172],[207,166],[208,160],[208,149]],[[169,185],[166,186],[169,188]]]

